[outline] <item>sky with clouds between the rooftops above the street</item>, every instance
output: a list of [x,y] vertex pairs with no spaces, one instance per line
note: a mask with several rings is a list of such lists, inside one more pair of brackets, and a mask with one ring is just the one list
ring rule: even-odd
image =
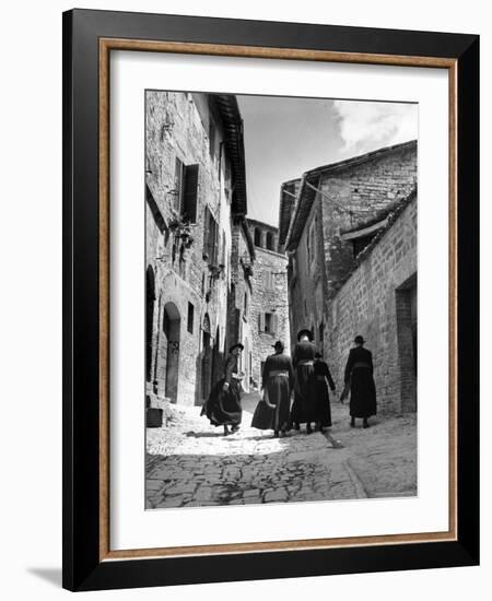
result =
[[418,137],[414,104],[273,96],[237,96],[237,102],[248,217],[276,226],[283,181]]

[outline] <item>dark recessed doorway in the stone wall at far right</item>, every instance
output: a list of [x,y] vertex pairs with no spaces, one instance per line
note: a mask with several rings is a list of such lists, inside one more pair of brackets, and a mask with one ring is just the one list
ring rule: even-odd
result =
[[401,411],[417,411],[417,273],[396,290]]

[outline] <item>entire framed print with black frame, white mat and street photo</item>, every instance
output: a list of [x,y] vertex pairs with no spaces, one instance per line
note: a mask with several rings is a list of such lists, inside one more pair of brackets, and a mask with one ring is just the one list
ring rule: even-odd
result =
[[479,39],[63,14],[63,586],[479,561]]

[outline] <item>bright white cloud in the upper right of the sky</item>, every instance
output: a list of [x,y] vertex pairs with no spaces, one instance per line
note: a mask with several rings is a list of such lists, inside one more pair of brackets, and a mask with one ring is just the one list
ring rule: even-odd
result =
[[345,152],[363,153],[418,138],[415,104],[333,101],[332,106]]

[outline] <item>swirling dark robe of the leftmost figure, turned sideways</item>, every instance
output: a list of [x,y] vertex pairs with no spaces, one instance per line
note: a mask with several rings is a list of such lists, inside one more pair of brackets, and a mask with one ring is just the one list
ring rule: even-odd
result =
[[[207,402],[201,408],[201,415],[207,415],[213,426],[236,426],[241,424],[243,409],[241,406],[239,380],[233,377],[237,374],[237,357],[229,355],[224,365],[224,377],[210,391]],[[224,382],[229,389],[224,391]]]

